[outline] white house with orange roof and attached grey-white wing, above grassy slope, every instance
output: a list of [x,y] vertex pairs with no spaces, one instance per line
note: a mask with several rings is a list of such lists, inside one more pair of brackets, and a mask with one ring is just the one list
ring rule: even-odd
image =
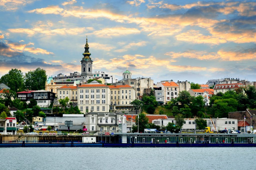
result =
[[158,103],[167,104],[172,98],[177,98],[179,85],[173,81],[161,81],[157,83],[155,97]]

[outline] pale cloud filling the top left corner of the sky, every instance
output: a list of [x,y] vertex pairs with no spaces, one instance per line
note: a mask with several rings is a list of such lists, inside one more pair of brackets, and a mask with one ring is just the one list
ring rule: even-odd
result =
[[17,10],[18,8],[31,4],[37,0],[2,0],[0,1],[1,10]]

